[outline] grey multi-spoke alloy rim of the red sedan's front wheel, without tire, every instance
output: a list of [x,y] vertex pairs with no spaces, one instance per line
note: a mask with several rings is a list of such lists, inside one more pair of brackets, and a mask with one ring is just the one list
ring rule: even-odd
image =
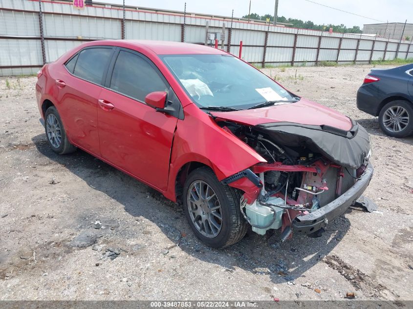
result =
[[222,211],[213,188],[204,181],[194,181],[189,186],[187,202],[196,229],[205,237],[217,237],[222,227]]

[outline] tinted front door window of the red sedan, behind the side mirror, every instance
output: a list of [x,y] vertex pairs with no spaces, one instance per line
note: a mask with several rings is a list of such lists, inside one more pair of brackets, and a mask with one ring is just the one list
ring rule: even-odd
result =
[[121,50],[113,68],[109,88],[145,102],[147,94],[153,91],[168,91],[169,86],[147,60]]

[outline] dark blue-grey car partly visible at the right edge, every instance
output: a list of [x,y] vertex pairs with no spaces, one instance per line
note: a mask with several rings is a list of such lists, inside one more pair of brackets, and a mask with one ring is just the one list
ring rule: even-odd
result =
[[372,69],[357,91],[358,109],[379,117],[392,137],[413,134],[413,63],[392,69]]

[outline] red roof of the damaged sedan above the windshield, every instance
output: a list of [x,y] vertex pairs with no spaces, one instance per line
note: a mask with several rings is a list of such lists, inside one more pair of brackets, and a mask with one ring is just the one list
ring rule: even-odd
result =
[[150,40],[105,40],[93,41],[90,45],[113,45],[130,49],[146,49],[157,55],[176,54],[217,54],[228,55],[226,52],[201,44],[182,43],[175,41],[150,41]]

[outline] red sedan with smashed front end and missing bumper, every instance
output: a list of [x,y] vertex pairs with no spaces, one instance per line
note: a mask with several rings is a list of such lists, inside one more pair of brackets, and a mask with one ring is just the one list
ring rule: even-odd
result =
[[43,66],[36,98],[53,151],[81,148],[181,201],[211,247],[249,225],[318,236],[373,173],[361,125],[211,47],[88,42]]

